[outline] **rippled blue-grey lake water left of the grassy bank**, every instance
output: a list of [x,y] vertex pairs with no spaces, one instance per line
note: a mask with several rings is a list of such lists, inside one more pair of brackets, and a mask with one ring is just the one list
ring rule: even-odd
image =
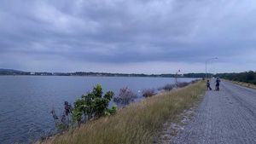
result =
[[29,143],[53,131],[52,107],[61,112],[64,101],[73,103],[95,84],[117,95],[128,86],[140,95],[138,90],[173,83],[174,78],[0,76],[0,143]]

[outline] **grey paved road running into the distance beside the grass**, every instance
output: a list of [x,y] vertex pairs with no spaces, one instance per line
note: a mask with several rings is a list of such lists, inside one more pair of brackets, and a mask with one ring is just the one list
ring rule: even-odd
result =
[[172,143],[256,144],[256,90],[222,82],[220,91],[207,91],[195,118]]

